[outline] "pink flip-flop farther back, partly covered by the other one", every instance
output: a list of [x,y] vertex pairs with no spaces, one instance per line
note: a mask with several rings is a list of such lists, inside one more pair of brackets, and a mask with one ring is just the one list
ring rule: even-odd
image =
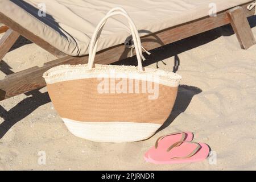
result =
[[159,137],[155,146],[151,147],[144,155],[146,162],[151,162],[149,154],[158,153],[159,150],[166,151],[172,144],[183,141],[192,141],[194,135],[190,132],[176,132]]

